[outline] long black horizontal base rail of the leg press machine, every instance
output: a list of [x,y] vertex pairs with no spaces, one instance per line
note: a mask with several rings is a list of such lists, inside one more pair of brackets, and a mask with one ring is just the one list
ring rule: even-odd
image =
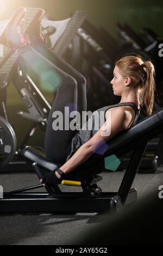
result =
[[[75,194],[75,193],[74,193]],[[117,193],[102,193],[100,196],[83,196],[80,192],[76,196],[57,195],[56,197],[35,196],[22,197],[21,194],[14,198],[0,199],[0,213],[27,213],[27,212],[104,212],[110,210],[110,203]],[[133,189],[128,196],[128,202],[135,203],[136,191]],[[122,209],[121,206],[117,208],[116,201],[115,210]]]

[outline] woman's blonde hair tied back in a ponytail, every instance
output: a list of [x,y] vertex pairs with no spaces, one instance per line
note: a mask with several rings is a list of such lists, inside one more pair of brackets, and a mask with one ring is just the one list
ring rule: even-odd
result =
[[116,62],[116,66],[120,69],[122,76],[131,78],[131,85],[139,90],[139,100],[141,107],[144,105],[147,114],[152,114],[154,103],[154,65],[152,62],[143,62],[135,56],[126,56]]

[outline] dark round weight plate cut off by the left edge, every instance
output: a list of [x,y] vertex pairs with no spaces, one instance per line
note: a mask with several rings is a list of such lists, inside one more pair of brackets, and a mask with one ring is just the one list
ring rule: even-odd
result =
[[12,126],[0,115],[0,171],[6,167],[16,151],[16,135]]

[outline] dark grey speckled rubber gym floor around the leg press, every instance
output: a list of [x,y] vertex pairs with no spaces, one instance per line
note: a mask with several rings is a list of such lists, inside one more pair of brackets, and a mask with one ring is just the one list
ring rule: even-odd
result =
[[[138,200],[148,192],[163,185],[163,167],[160,173],[137,173],[132,187],[138,192]],[[105,191],[118,191],[124,172],[103,172],[103,179],[98,185]],[[1,174],[1,185],[4,191],[36,185],[39,183],[34,173]],[[62,187],[62,191],[79,191],[80,188]],[[41,188],[39,191],[45,191]],[[39,192],[38,191],[38,192]],[[149,198],[150,200],[150,198]],[[43,205],[42,205],[43,208]],[[67,214],[1,214],[0,217],[0,245],[73,245],[77,236],[100,224],[104,215],[97,213]],[[109,218],[109,214],[108,214]],[[108,230],[109,232],[109,230]],[[98,242],[97,242],[98,243]]]

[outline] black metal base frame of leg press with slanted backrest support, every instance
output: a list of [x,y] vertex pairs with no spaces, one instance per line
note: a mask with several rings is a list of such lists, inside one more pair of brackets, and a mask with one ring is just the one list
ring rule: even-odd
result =
[[[117,212],[124,205],[135,203],[137,191],[131,189],[137,169],[142,160],[147,142],[141,144],[133,151],[126,174],[122,180],[118,192],[102,192],[97,186],[97,181],[101,179],[96,176],[95,182],[82,183],[83,192],[61,192],[58,186],[48,188],[48,193],[24,193],[27,190],[42,187],[37,185],[23,188],[19,191],[4,193],[4,198],[0,200],[0,213],[12,212]],[[41,169],[37,163],[33,163],[33,168],[41,178]]]

